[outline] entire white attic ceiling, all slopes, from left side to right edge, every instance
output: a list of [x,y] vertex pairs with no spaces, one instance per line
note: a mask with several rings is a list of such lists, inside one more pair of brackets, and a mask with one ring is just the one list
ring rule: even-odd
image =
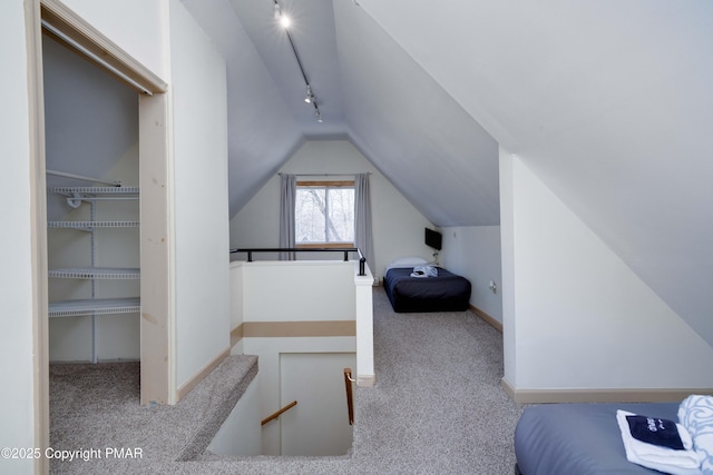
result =
[[[518,155],[713,344],[713,2],[185,0],[226,55],[231,212],[345,137],[437,226],[499,224]],[[322,126],[322,127],[320,127]]]

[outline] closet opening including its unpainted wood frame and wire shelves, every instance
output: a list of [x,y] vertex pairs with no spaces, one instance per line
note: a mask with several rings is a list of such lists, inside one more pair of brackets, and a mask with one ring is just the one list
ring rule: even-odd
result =
[[50,360],[140,362],[140,403],[176,402],[167,85],[64,3],[30,6],[35,425],[49,446]]

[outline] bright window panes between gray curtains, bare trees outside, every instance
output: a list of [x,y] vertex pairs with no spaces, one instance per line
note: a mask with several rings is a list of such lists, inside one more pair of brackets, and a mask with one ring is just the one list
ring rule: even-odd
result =
[[354,246],[354,181],[297,181],[297,247]]

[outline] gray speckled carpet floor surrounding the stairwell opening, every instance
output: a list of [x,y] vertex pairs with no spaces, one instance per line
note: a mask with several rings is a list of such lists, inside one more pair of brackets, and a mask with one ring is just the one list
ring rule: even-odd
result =
[[[500,386],[502,336],[470,311],[393,313],[381,287],[374,288],[377,386],[355,392],[354,443],[345,456],[205,454],[176,462],[194,437],[188,428],[206,417],[187,410],[193,393],[186,404],[137,408],[137,365],[114,368],[108,385],[97,379],[96,386],[107,386],[100,396],[72,387],[71,378],[61,377],[71,370],[67,366],[52,369],[50,380],[51,445],[74,449],[130,444],[143,447],[144,454],[140,459],[55,462],[52,473],[500,475],[514,471],[512,433],[521,410]],[[94,373],[87,377],[101,377]],[[101,416],[97,419],[96,414]],[[152,432],[150,427],[166,424],[170,436]],[[167,446],[156,448],[162,439]]]

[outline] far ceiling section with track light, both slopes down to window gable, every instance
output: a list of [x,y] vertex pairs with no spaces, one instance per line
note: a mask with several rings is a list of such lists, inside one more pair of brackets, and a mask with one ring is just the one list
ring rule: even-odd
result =
[[231,216],[301,140],[344,138],[434,225],[499,222],[497,142],[352,1],[280,1],[322,123],[272,0],[184,4],[228,62]]

